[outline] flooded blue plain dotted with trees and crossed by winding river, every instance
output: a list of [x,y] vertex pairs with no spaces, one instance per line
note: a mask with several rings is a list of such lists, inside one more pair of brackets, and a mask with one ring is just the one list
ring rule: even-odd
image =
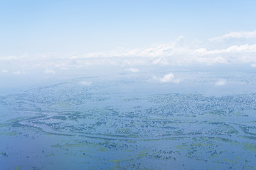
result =
[[256,169],[255,80],[184,75],[84,77],[1,96],[0,167]]

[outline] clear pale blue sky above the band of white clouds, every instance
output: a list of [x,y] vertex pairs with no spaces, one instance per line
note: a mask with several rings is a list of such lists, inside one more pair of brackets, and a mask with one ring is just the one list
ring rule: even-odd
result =
[[256,1],[1,1],[1,55],[147,47],[256,27]]

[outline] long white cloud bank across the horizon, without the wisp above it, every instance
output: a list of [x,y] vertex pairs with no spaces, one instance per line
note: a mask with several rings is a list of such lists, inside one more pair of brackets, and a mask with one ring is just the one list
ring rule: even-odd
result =
[[[115,57],[113,57],[113,55]],[[90,57],[89,57],[90,56]],[[81,67],[94,67],[97,65],[116,65],[137,67],[140,65],[188,65],[188,64],[233,64],[256,63],[256,44],[232,45],[223,49],[208,50],[206,47],[195,48],[175,43],[158,45],[146,49],[129,51],[90,53],[87,57],[76,55],[50,57],[36,56],[26,57],[22,60],[14,60],[19,57],[11,57],[1,61],[1,65],[10,65],[19,69],[33,69],[38,67],[70,69]],[[9,69],[9,68],[8,68]],[[53,74],[53,69],[46,69],[46,74]]]

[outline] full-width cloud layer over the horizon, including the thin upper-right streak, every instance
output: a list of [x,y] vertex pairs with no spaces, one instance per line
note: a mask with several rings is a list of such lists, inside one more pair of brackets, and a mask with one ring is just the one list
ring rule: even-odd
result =
[[[229,45],[215,47],[210,42],[228,40],[230,38],[256,39],[256,30],[251,32],[234,32],[211,38],[207,43],[193,40],[190,44],[183,44],[184,38],[178,37],[168,44],[155,45],[144,49],[113,50],[109,52],[92,52],[77,55],[58,55],[55,53],[21,56],[0,56],[2,74],[23,74],[41,69],[44,74],[58,73],[82,67],[120,66],[128,67],[129,72],[139,72],[140,66],[173,66],[193,64],[248,64],[255,67],[256,43],[243,45]],[[198,47],[196,44],[200,44]],[[207,47],[206,47],[207,44]],[[213,43],[214,44],[214,43]],[[203,46],[205,45],[205,47]],[[7,72],[6,72],[7,71]],[[164,78],[171,79],[169,77]]]

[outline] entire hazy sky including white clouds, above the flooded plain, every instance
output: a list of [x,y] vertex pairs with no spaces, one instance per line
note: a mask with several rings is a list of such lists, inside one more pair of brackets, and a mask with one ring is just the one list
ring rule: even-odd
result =
[[0,74],[114,65],[256,68],[256,1],[0,0]]

